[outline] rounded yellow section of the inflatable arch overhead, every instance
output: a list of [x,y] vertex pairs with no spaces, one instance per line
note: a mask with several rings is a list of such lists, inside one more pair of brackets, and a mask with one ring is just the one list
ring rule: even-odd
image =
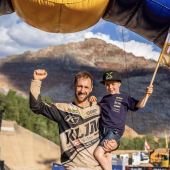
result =
[[15,12],[28,24],[47,32],[70,33],[94,25],[109,0],[12,0]]

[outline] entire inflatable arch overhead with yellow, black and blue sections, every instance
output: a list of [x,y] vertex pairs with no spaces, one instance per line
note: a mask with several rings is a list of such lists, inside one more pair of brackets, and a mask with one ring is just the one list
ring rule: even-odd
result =
[[76,32],[103,18],[161,48],[170,27],[170,0],[0,0],[0,15],[13,11],[47,32]]

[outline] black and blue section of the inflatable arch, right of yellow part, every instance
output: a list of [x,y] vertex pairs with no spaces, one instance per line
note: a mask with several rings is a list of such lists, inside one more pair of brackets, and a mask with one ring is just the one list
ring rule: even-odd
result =
[[162,47],[170,27],[170,0],[110,0],[103,19]]

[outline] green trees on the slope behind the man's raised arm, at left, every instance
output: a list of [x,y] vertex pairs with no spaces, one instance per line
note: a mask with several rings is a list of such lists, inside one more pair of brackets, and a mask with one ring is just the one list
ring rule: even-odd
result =
[[[50,103],[50,97],[45,96],[43,101]],[[4,110],[3,119],[14,120],[23,126],[55,143],[59,143],[58,126],[55,122],[32,113],[27,98],[10,90],[7,95],[0,93],[0,110]]]

